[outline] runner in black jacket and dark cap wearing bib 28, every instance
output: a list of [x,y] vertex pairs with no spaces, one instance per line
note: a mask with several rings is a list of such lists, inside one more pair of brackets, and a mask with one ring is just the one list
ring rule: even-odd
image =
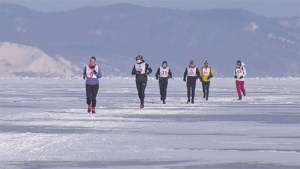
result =
[[133,66],[132,75],[135,75],[137,91],[141,101],[140,108],[144,108],[145,89],[148,81],[148,75],[152,72],[150,66],[143,60],[141,55],[135,58],[137,63]]

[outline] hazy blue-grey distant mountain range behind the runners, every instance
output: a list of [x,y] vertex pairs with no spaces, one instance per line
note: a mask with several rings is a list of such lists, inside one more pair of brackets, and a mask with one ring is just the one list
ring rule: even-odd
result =
[[183,76],[190,60],[197,67],[207,60],[215,77],[231,77],[237,60],[245,63],[248,77],[300,76],[299,17],[128,3],[42,13],[1,3],[0,19],[2,42],[38,47],[80,69],[95,56],[104,76],[131,76],[139,54],[154,71],[168,61],[175,77]]

